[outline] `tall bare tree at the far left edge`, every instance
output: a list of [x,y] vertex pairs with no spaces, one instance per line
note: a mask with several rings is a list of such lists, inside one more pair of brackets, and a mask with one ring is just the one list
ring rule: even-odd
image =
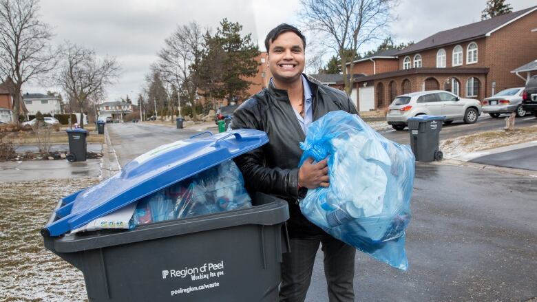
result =
[[56,65],[50,26],[39,21],[38,0],[0,0],[0,77],[14,82],[13,115],[19,122],[21,88]]

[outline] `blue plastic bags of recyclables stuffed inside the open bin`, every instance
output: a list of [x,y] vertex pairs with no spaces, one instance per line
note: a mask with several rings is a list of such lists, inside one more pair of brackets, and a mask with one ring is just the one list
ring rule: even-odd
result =
[[227,160],[138,201],[130,226],[249,206],[242,173],[233,160]]

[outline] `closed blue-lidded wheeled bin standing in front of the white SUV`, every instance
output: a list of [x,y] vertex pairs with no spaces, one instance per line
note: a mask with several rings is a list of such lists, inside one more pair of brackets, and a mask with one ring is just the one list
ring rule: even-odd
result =
[[445,116],[416,116],[408,119],[410,147],[419,162],[442,160],[439,150],[440,131]]

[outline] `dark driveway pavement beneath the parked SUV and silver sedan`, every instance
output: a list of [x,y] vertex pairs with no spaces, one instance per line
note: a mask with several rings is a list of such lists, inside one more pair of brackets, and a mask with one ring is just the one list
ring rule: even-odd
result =
[[[528,127],[537,125],[537,118],[534,116],[525,116],[524,118],[516,118],[516,127]],[[490,130],[500,130],[505,127],[504,118],[491,118],[488,115],[481,115],[477,122],[472,125],[465,124],[462,120],[457,120],[451,125],[443,125],[440,132],[440,139],[445,140],[447,138],[456,138],[457,136],[465,136],[472,133]],[[410,135],[408,134],[408,128],[403,131],[381,131],[380,132],[386,138],[399,142],[400,144],[410,144]]]

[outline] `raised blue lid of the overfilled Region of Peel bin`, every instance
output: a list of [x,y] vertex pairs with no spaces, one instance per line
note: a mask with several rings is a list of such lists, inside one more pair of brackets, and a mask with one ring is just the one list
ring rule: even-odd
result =
[[107,180],[63,198],[63,206],[56,210],[60,218],[45,229],[50,236],[62,235],[267,142],[263,131],[237,129],[216,135],[206,131],[162,145]]

